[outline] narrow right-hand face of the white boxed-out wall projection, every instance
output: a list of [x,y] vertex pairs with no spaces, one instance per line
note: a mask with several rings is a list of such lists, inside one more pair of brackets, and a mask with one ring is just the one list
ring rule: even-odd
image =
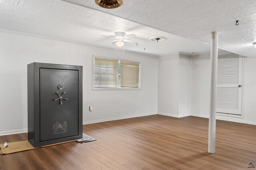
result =
[[179,117],[190,115],[190,87],[191,87],[190,55],[180,54],[179,58]]

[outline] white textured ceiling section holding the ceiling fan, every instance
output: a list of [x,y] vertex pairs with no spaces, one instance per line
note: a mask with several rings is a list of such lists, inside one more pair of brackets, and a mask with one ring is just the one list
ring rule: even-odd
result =
[[[125,6],[129,1],[125,1]],[[84,2],[88,2],[89,6],[96,6],[94,0],[76,1],[80,4]],[[179,51],[189,54],[210,51],[209,45],[61,0],[0,0],[0,29],[112,49],[116,49],[116,45],[110,42],[113,39],[100,35],[114,36],[115,32],[123,31],[126,34],[137,35],[130,40],[138,42],[138,46],[125,43],[124,51],[150,55],[165,55]],[[158,43],[150,40],[156,36],[167,39]],[[117,50],[123,49],[118,47]]]

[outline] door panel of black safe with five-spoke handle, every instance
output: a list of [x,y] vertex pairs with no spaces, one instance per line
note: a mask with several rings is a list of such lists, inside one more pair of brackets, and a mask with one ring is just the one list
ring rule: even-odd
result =
[[78,135],[78,70],[40,68],[40,142]]

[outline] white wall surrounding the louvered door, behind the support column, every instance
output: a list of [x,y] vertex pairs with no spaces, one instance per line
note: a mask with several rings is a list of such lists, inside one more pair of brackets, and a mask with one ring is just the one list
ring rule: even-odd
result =
[[[256,58],[244,59],[244,117],[217,115],[217,119],[256,124]],[[210,53],[191,56],[191,115],[209,117]]]

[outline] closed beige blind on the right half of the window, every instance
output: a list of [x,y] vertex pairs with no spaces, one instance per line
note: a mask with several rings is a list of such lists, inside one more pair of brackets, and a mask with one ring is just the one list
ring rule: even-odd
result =
[[120,61],[121,87],[139,88],[140,63]]

